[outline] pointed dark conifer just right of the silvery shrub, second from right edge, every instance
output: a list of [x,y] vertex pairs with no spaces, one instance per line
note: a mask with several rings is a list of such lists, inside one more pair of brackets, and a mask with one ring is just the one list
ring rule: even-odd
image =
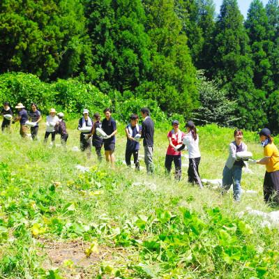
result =
[[243,16],[236,0],[224,0],[216,22],[212,71],[236,100],[238,126],[257,129],[266,122],[266,98],[253,84],[253,63]]

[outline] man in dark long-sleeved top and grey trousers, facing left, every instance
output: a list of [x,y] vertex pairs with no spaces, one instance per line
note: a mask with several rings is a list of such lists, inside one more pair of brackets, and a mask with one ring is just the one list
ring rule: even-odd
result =
[[146,165],[147,174],[154,172],[153,164],[153,145],[154,145],[154,123],[150,118],[150,112],[147,107],[142,107],[140,114],[144,121],[142,121],[142,138],[144,139],[144,163]]

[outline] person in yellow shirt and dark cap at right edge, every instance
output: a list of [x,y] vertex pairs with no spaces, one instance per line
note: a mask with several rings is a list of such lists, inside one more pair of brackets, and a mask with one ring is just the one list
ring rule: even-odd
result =
[[263,128],[259,132],[259,140],[264,147],[264,158],[257,160],[259,165],[266,166],[264,175],[264,202],[279,205],[279,152],[273,143],[271,131]]

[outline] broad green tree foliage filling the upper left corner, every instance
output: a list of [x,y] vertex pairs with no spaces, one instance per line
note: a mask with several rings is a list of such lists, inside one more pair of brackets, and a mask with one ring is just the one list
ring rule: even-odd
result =
[[[0,71],[43,80],[77,75],[91,66],[79,0],[0,1]],[[88,54],[89,53],[89,54]]]

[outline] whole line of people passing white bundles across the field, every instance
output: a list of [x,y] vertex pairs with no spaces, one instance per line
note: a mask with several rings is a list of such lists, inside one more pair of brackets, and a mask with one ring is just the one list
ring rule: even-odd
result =
[[[20,121],[20,135],[27,137],[27,121],[31,122],[31,137],[37,140],[39,122],[42,116],[38,111],[35,103],[31,103],[29,112],[25,110],[22,103],[17,104],[15,108],[18,110],[15,118],[7,117],[13,116],[13,111],[10,109],[8,102],[3,103],[1,115],[3,122],[1,125],[2,131],[10,128],[10,123]],[[112,111],[106,108],[104,111],[105,118],[100,120],[100,114],[93,114],[93,119],[89,116],[89,110],[84,109],[82,118],[78,122],[77,129],[80,130],[80,150],[86,151],[87,156],[91,154],[91,147],[94,146],[98,160],[102,160],[101,149],[104,146],[105,158],[110,162],[112,167],[115,163],[115,143],[116,143],[116,121],[112,118]],[[125,160],[126,165],[131,166],[131,157],[135,164],[135,169],[140,170],[139,150],[140,139],[143,139],[144,146],[144,163],[146,165],[147,174],[153,174],[153,144],[154,144],[154,123],[150,117],[149,109],[142,107],[140,110],[142,116],[142,125],[139,125],[139,116],[132,114],[130,116],[130,123],[126,126],[125,132],[127,137]],[[199,151],[199,136],[193,121],[186,123],[186,132],[183,133],[179,129],[179,121],[172,121],[172,130],[167,133],[169,146],[165,155],[165,170],[170,174],[172,163],[174,163],[175,174],[177,180],[181,179],[181,151],[188,150],[189,166],[188,166],[188,181],[195,183],[200,188],[203,187],[202,180],[199,176],[199,163],[201,160],[201,153]],[[104,135],[98,133],[98,129],[103,130]],[[55,135],[61,135],[61,144],[66,146],[68,140],[68,133],[66,130],[66,123],[63,121],[63,113],[59,112],[56,115],[55,109],[50,109],[50,115],[46,119],[46,131],[44,142],[47,142],[51,135],[52,143],[54,144]],[[264,158],[261,160],[250,160],[250,163],[259,165],[266,165],[266,174],[264,176],[264,201],[279,205],[279,152],[276,145],[273,143],[271,131],[264,128],[259,132],[259,140],[264,147]],[[225,194],[231,186],[233,186],[233,197],[237,202],[241,197],[241,175],[242,168],[246,166],[246,160],[243,160],[239,154],[247,151],[248,147],[243,142],[243,131],[234,130],[234,141],[229,144],[229,156],[223,169],[223,183],[222,193]]]

